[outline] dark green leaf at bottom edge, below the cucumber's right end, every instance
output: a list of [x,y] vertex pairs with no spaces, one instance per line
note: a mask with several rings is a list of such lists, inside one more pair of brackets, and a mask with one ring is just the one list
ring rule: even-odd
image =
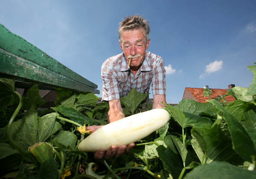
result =
[[183,168],[180,156],[173,153],[171,149],[166,149],[163,145],[157,147],[156,150],[159,158],[163,162],[164,169],[171,173],[174,179],[177,179],[180,176],[180,172]]

